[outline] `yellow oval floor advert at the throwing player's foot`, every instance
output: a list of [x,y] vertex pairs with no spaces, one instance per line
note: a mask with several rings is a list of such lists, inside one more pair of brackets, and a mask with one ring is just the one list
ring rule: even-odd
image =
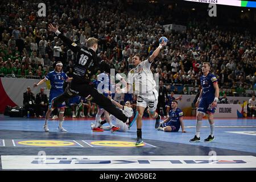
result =
[[134,141],[121,141],[121,140],[82,140],[91,147],[155,147],[151,144],[142,143],[135,146]]

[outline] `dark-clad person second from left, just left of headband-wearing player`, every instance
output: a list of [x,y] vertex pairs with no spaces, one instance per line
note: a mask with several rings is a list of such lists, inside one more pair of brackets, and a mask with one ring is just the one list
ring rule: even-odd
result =
[[44,88],[40,88],[40,92],[36,94],[35,99],[36,117],[44,117],[48,109],[48,99]]

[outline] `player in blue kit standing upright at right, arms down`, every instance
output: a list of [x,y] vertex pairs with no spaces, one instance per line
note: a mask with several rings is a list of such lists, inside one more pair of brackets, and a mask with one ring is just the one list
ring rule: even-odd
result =
[[210,135],[208,138],[204,139],[204,142],[211,142],[214,139],[213,114],[217,107],[219,88],[216,76],[209,73],[209,71],[210,63],[203,63],[203,76],[200,78],[202,89],[196,102],[196,107],[198,107],[196,115],[196,135],[194,138],[189,140],[189,142],[200,142],[200,128],[205,114],[208,114]]

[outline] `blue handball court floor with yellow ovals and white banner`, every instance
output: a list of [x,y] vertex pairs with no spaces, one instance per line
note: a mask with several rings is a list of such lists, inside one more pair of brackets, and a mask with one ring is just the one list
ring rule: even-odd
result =
[[213,142],[203,121],[201,142],[194,118],[184,118],[187,133],[157,131],[155,121],[143,119],[144,144],[135,147],[136,123],[124,133],[93,133],[94,120],[65,118],[67,133],[58,122],[0,115],[1,170],[256,170],[256,119],[215,119]]

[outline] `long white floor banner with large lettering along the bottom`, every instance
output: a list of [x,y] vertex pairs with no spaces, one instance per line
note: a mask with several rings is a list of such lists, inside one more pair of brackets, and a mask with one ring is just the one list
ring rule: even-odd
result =
[[2,169],[256,168],[255,156],[2,155]]

